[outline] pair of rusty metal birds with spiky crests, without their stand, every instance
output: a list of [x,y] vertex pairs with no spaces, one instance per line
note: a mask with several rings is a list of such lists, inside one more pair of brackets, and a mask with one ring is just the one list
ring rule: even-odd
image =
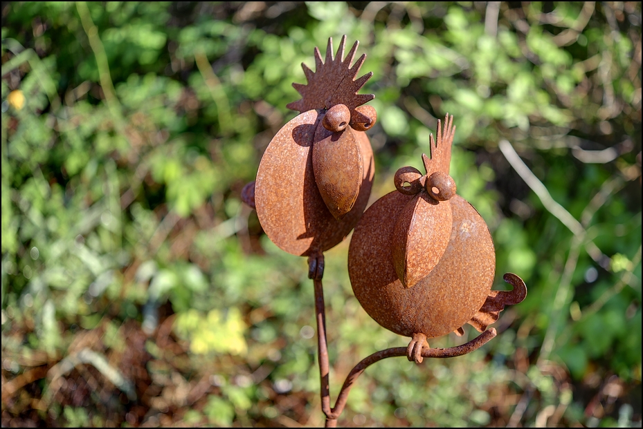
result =
[[315,72],[302,64],[308,83],[293,84],[302,98],[288,104],[300,115],[271,140],[242,198],[275,245],[308,257],[316,280],[323,276],[323,252],[355,229],[348,252],[353,292],[377,323],[410,337],[407,357],[421,363],[427,339],[462,336],[466,323],[484,332],[527,289],[505,274],[513,290],[491,290],[491,234],[449,175],[452,116],[437,122],[437,138],[431,135],[431,156],[422,157],[426,174],[399,169],[396,190],[364,211],[374,175],[365,131],[377,114],[363,104],[375,96],[357,94],[372,73],[355,79],[366,56],[352,64],[358,42],[344,57],[345,41],[334,56],[329,39],[325,59],[315,48]]

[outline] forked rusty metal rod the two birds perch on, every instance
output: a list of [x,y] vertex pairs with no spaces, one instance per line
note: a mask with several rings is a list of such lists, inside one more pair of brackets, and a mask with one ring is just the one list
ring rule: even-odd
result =
[[[315,285],[315,313],[317,321],[317,342],[318,342],[318,359],[319,359],[319,374],[320,374],[320,394],[322,411],[326,415],[326,427],[334,428],[337,426],[337,419],[343,412],[348,399],[348,394],[357,378],[373,363],[379,362],[382,359],[395,356],[406,356],[407,347],[392,347],[386,350],[380,350],[370,356],[362,359],[360,363],[355,365],[351,372],[346,377],[344,384],[339,392],[337,401],[334,408],[330,408],[330,387],[329,387],[329,370],[330,365],[328,362],[328,345],[326,341],[326,311],[324,305],[324,291],[322,281],[319,278],[314,279]],[[455,356],[462,356],[463,354],[471,353],[474,350],[482,347],[482,345],[489,342],[496,336],[496,330],[491,327],[489,330],[482,332],[475,339],[469,341],[458,347],[449,347],[446,349],[424,347],[422,349],[423,358],[449,358]]]

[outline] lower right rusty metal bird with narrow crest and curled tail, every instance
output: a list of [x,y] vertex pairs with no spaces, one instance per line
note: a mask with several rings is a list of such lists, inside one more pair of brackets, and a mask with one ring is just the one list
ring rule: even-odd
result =
[[467,322],[485,330],[504,305],[518,303],[526,294],[514,274],[506,277],[514,291],[491,291],[493,240],[478,211],[455,195],[449,166],[440,158],[451,156],[455,127],[449,115],[444,123],[442,128],[438,122],[437,142],[431,138],[432,158],[423,157],[427,175],[418,177],[411,167],[400,169],[398,191],[364,213],[349,249],[356,298],[380,325],[414,339],[408,357],[416,362],[421,361],[415,349],[422,347],[416,345],[422,336],[462,334]]

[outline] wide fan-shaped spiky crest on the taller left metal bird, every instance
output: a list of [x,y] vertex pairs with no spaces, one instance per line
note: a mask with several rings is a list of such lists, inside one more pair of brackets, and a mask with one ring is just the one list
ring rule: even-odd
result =
[[359,79],[353,80],[359,73],[359,69],[366,59],[366,54],[359,57],[351,66],[359,41],[355,42],[346,58],[344,58],[345,44],[346,36],[343,36],[337,49],[337,55],[333,57],[333,39],[329,38],[325,60],[322,60],[319,49],[315,48],[315,72],[302,63],[301,66],[308,84],[293,84],[302,99],[287,104],[288,108],[303,113],[311,109],[329,109],[336,104],[344,104],[349,108],[350,115],[353,117],[357,106],[375,98],[373,94],[357,94],[357,91],[364,86],[373,73],[367,73]]

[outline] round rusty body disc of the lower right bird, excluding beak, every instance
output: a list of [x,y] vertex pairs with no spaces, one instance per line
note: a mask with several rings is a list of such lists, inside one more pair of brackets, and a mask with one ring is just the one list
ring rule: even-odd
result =
[[461,327],[482,307],[493,284],[496,254],[487,224],[456,195],[449,200],[449,246],[431,273],[407,289],[393,265],[391,240],[412,198],[393,191],[364,213],[351,239],[348,272],[356,298],[377,323],[400,335],[434,338]]

